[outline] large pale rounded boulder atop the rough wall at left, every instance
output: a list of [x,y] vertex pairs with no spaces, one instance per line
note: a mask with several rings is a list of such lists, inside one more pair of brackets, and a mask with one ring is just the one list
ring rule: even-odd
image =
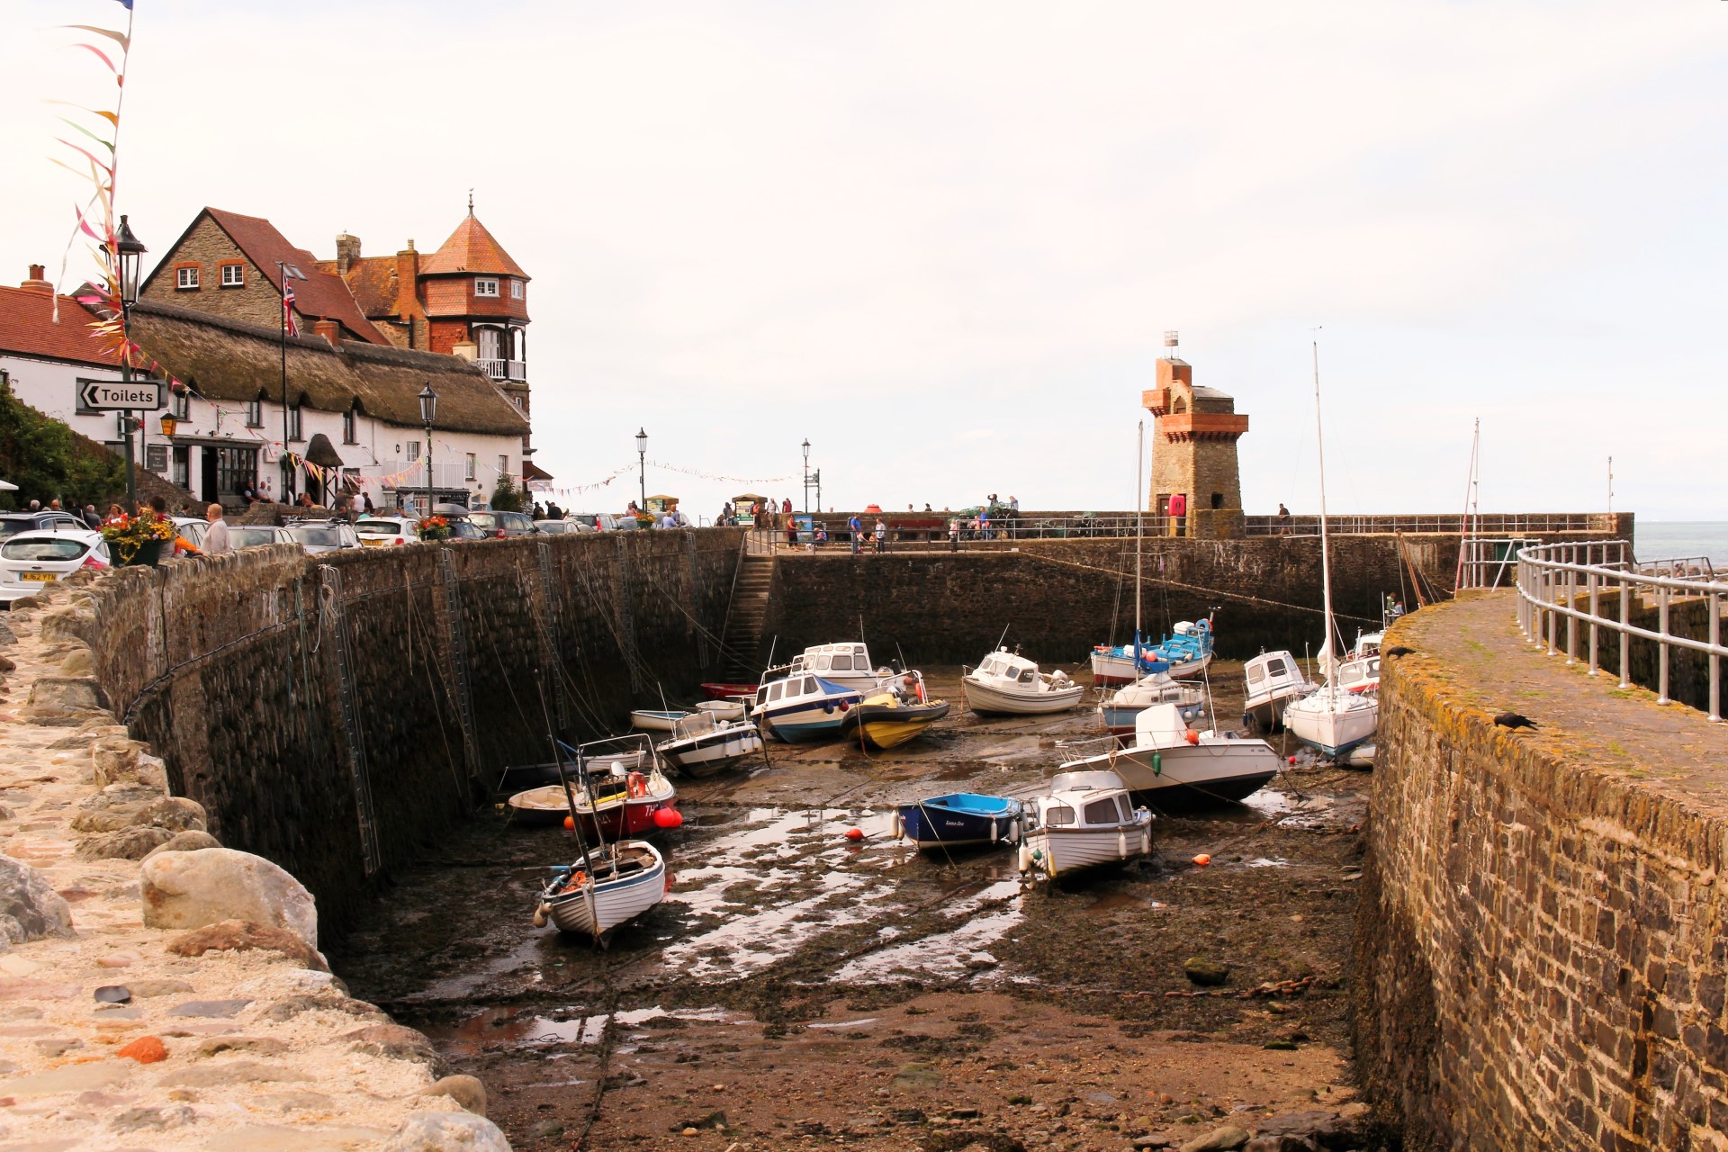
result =
[[138,870],[147,927],[252,921],[285,927],[318,948],[318,910],[306,888],[263,857],[233,848],[164,851]]

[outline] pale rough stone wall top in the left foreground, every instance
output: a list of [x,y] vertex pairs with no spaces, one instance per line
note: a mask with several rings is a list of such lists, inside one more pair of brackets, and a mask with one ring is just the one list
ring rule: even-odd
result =
[[[508,1149],[458,1104],[484,1111],[479,1083],[441,1081],[430,1043],[349,998],[311,950],[185,957],[168,950],[180,931],[145,927],[140,862],[92,857],[180,829],[176,845],[209,841],[197,805],[149,803],[159,762],[100,710],[88,648],[60,639],[57,606],[79,596],[54,589],[0,632],[0,855],[64,898],[38,903],[73,933],[0,952],[0,1152]],[[92,812],[104,781],[131,803]],[[111,986],[130,1002],[98,1002]]]

